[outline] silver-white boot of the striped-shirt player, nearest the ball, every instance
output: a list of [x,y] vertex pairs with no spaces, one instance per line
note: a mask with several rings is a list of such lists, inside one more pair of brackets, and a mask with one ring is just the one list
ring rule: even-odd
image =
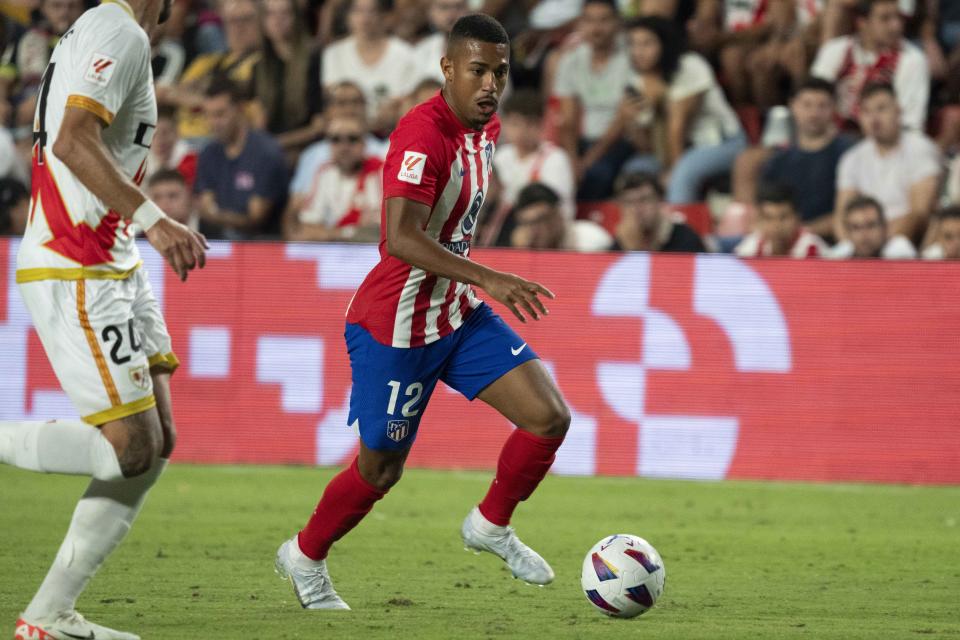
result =
[[499,527],[483,517],[474,507],[460,527],[464,548],[468,551],[489,551],[503,559],[515,578],[541,586],[553,582],[553,569],[540,554],[520,542],[513,527]]

